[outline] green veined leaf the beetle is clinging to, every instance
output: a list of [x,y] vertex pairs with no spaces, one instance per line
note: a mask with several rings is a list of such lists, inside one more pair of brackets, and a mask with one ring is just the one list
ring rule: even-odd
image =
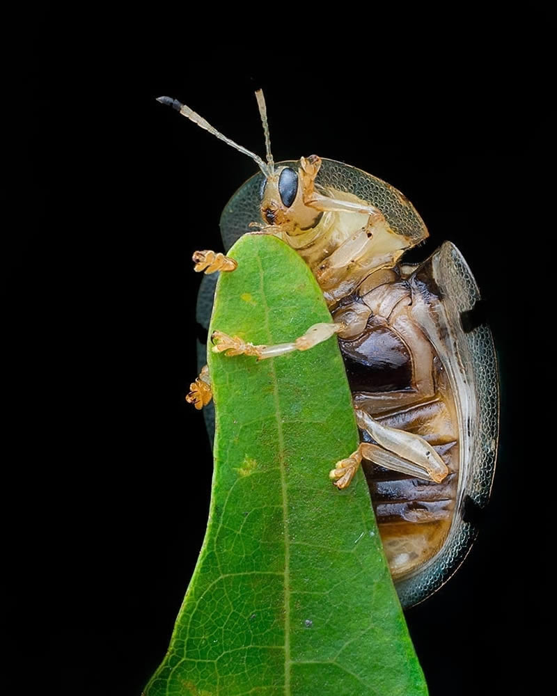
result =
[[[269,345],[331,321],[280,240],[246,235],[229,255],[211,332]],[[358,444],[336,339],[260,362],[211,352],[209,369],[210,519],[147,696],[427,694],[366,481],[338,491],[328,477]]]

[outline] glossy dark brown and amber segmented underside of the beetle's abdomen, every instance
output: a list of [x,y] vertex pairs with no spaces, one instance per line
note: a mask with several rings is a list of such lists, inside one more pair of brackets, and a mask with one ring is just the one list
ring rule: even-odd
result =
[[[378,317],[370,317],[366,331],[356,340],[340,340],[340,349],[359,406],[382,425],[421,435],[449,469],[446,478],[436,484],[363,463],[391,574],[397,579],[421,567],[439,551],[453,519],[459,469],[453,396],[439,361],[435,361],[436,393],[432,397],[423,401],[417,396],[418,403],[391,405],[386,412],[377,409],[374,397],[379,394],[391,393],[393,404],[398,395],[409,397],[413,374],[406,345]],[[366,432],[362,439],[371,440]]]

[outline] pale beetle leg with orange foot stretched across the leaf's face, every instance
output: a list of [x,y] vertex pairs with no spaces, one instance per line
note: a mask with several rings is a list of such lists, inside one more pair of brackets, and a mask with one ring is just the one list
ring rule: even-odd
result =
[[224,353],[226,356],[251,355],[256,356],[258,360],[265,360],[265,358],[276,358],[296,350],[308,350],[331,338],[335,333],[343,331],[343,329],[345,329],[345,325],[342,323],[313,324],[304,335],[299,336],[295,341],[277,343],[271,346],[256,346],[253,343],[242,340],[238,336],[229,336],[222,331],[213,331],[211,340],[213,343],[215,341],[218,342],[212,350],[214,353]]

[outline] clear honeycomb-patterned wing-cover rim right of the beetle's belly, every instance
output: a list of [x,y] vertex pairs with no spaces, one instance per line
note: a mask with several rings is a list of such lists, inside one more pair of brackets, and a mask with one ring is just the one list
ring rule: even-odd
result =
[[[397,583],[403,607],[423,601],[444,585],[469,552],[477,528],[466,519],[466,510],[470,502],[478,509],[487,505],[499,435],[499,379],[492,333],[485,324],[464,333],[460,319],[462,312],[471,310],[480,299],[476,281],[451,242],[444,242],[426,263],[432,264],[433,277],[441,292],[444,328],[450,336],[447,345],[456,352],[443,363],[453,384],[459,418],[459,500],[441,551],[416,574]],[[433,342],[441,356],[444,346]]]

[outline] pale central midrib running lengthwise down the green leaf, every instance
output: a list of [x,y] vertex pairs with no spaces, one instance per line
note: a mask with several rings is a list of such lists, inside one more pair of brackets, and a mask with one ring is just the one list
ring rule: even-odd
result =
[[[259,267],[260,291],[262,304],[265,308],[265,330],[272,341],[271,327],[269,325],[269,306],[265,295],[265,273],[263,271],[259,251],[256,252]],[[275,404],[276,431],[278,436],[278,468],[281,472],[281,493],[283,501],[283,538],[284,538],[284,693],[290,696],[290,536],[288,528],[288,489],[286,486],[285,466],[284,466],[284,434],[281,420],[281,402],[278,398],[278,380],[274,358],[269,360],[269,370],[273,382],[273,397]]]

